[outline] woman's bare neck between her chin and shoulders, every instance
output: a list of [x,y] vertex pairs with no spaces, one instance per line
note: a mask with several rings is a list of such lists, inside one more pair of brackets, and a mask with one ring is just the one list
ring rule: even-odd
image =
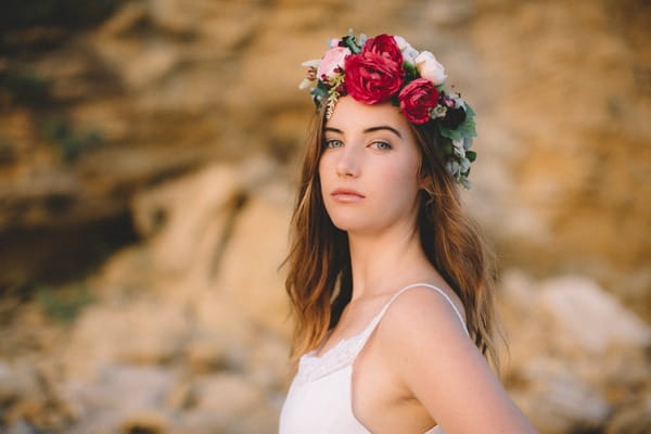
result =
[[348,245],[353,299],[395,290],[413,279],[436,275],[414,228],[394,228],[374,234],[349,232]]

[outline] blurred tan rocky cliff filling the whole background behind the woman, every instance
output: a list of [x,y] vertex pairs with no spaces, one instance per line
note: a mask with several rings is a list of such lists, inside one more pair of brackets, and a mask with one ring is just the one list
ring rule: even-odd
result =
[[651,5],[0,7],[0,431],[272,433],[311,105],[349,27],[434,52],[477,112],[505,382],[541,433],[651,432]]

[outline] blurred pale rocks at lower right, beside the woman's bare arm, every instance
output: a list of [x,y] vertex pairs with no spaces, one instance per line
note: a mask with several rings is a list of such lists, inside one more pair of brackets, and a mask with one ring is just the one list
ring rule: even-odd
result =
[[[505,379],[540,432],[651,426],[649,324],[585,277],[538,282],[512,269],[500,295],[510,341]],[[624,408],[637,411],[631,431],[616,427]]]

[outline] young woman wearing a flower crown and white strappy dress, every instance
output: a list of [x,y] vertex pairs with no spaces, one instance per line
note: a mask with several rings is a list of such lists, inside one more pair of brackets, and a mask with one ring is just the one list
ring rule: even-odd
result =
[[492,277],[457,183],[473,112],[403,38],[352,34],[306,63],[318,120],[286,289],[293,433],[531,433],[493,374]]

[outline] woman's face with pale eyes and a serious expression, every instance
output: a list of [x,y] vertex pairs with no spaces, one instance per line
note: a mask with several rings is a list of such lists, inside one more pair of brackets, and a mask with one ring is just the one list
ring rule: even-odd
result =
[[398,107],[341,98],[322,146],[321,194],[337,228],[371,234],[396,225],[412,228],[420,153]]

